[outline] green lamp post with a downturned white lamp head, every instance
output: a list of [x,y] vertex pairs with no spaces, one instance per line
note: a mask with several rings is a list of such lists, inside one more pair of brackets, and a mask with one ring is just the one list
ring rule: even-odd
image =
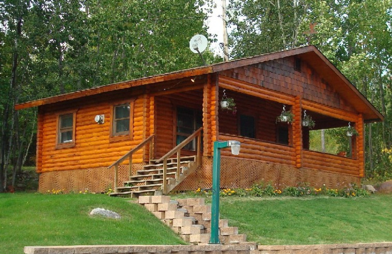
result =
[[219,194],[221,189],[221,148],[231,148],[234,155],[240,154],[241,143],[236,140],[215,141],[212,161],[212,207],[210,244],[219,242]]

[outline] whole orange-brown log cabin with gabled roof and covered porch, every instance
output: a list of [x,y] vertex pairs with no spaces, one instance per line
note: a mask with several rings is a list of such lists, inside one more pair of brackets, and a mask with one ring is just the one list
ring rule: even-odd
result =
[[[231,98],[235,107],[220,101]],[[221,188],[259,181],[338,188],[364,177],[364,124],[383,115],[315,47],[304,46],[21,103],[38,107],[39,191],[210,188],[215,141]],[[233,105],[231,105],[233,106]],[[285,108],[285,110],[282,110]],[[305,111],[306,110],[306,111]],[[291,123],[279,121],[291,112]],[[314,130],[351,125],[350,151],[310,149]],[[347,152],[347,154],[346,154]]]

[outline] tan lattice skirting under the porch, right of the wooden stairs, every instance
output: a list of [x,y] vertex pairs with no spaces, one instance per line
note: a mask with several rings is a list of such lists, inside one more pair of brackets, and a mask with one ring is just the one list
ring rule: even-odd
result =
[[[221,188],[248,188],[253,183],[264,181],[276,188],[309,183],[312,187],[341,189],[351,183],[360,184],[361,178],[353,175],[321,171],[317,169],[297,169],[289,165],[265,163],[238,158],[221,158]],[[203,157],[201,167],[189,175],[174,191],[211,188],[212,157]]]

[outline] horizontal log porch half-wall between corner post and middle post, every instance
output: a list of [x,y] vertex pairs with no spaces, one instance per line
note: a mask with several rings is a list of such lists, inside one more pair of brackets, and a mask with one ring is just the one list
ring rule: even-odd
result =
[[[220,134],[220,141],[238,140],[241,142],[241,152],[236,158],[259,160],[295,166],[295,150],[293,147],[273,144],[244,137]],[[229,148],[222,149],[223,156],[233,156]]]

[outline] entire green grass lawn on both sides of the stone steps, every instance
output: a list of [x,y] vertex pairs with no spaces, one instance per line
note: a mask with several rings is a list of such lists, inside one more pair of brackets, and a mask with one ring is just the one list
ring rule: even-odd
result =
[[[40,245],[185,244],[127,200],[103,194],[0,194],[2,253],[23,254],[24,246]],[[89,216],[97,207],[123,218]],[[392,195],[221,197],[221,218],[238,226],[248,241],[265,245],[392,241]]]

